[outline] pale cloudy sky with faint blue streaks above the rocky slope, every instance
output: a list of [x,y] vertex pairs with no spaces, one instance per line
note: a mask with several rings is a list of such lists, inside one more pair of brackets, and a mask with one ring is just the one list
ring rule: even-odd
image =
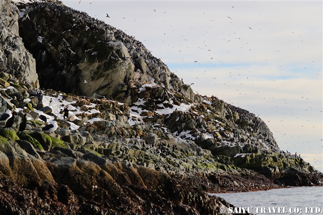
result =
[[323,172],[323,1],[62,2],[134,36],[195,93],[259,116]]

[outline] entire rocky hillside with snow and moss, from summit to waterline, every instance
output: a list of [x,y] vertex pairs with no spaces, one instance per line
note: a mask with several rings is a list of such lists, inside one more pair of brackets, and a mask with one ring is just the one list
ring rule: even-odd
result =
[[[219,214],[230,205],[205,192],[323,185],[260,118],[195,95],[124,32],[60,2],[0,10],[0,113],[17,112],[0,130],[0,212]],[[40,132],[49,119],[60,128]]]

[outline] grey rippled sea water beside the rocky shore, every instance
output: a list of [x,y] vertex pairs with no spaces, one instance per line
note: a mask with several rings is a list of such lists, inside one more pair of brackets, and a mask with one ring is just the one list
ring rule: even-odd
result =
[[252,210],[252,214],[323,215],[323,186],[209,195],[219,196],[237,207],[227,209],[231,213],[243,212],[243,207]]

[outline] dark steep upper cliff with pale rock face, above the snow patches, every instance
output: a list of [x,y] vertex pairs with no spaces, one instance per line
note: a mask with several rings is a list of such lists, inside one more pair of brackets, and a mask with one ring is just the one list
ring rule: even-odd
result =
[[121,30],[56,3],[20,3],[19,8],[19,33],[36,59],[42,87],[130,104],[152,97],[147,89],[139,94],[149,84],[160,98],[164,88],[194,100],[189,85],[178,84],[160,59]]

